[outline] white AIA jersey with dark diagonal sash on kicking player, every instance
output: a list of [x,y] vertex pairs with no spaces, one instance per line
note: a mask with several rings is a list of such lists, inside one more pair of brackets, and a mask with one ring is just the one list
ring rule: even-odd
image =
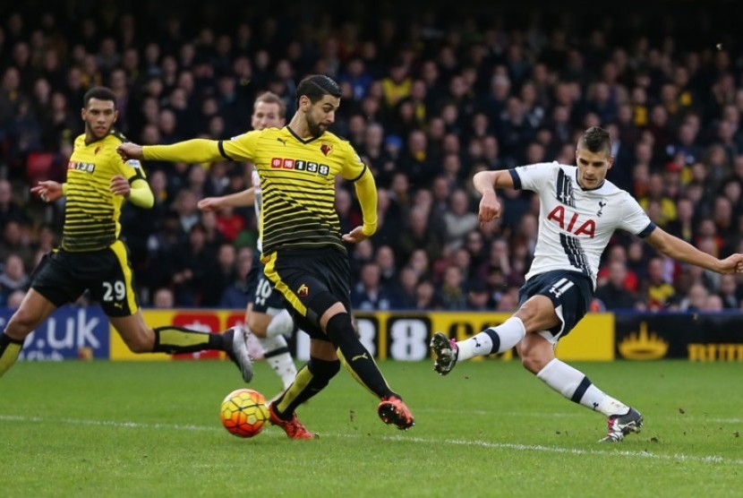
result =
[[655,224],[636,200],[608,180],[591,190],[577,167],[539,163],[510,170],[517,189],[539,195],[539,235],[526,279],[551,270],[578,271],[594,281],[614,230],[648,236]]

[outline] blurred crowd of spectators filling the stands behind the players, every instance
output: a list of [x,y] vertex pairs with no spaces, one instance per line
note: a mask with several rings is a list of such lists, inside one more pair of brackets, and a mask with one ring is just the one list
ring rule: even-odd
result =
[[[653,221],[715,256],[743,252],[743,58],[724,12],[685,3],[667,13],[662,3],[619,22],[619,12],[583,8],[380,2],[369,15],[354,5],[243,4],[0,7],[0,305],[17,305],[58,243],[64,202],[28,190],[64,181],[82,95],[96,85],[118,96],[116,127],[155,144],[244,133],[260,92],[285,99],[291,116],[303,75],[337,79],[332,131],[379,188],[378,234],[349,247],[356,309],[515,309],[536,198],[502,191],[500,222],[480,227],[471,178],[575,164],[576,137],[592,125],[612,136],[608,178]],[[253,210],[196,204],[249,187],[249,165],[145,167],[155,207],[123,214],[143,305],[243,307],[258,257]],[[336,204],[344,231],[360,222],[350,185],[339,185]],[[672,262],[622,233],[598,284],[595,310],[743,307],[738,277]]]

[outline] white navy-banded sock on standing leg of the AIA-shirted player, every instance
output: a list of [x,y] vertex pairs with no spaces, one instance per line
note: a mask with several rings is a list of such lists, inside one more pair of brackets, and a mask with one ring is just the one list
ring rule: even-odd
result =
[[557,358],[552,359],[536,376],[571,401],[605,416],[624,415],[629,411],[627,405],[594,386],[585,374]]

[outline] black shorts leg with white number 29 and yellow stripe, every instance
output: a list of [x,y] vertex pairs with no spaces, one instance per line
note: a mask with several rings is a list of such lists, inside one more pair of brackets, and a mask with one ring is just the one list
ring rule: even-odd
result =
[[90,261],[90,295],[109,317],[130,316],[140,309],[129,250],[120,240]]

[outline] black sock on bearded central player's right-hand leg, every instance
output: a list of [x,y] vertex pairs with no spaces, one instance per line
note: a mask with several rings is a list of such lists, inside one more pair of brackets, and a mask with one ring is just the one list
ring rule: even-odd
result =
[[374,363],[372,355],[356,337],[350,314],[338,313],[333,316],[328,321],[327,329],[328,337],[337,348],[344,366],[357,382],[372,391],[380,399],[391,395],[397,396],[394,391],[389,389],[389,385],[377,364]]

